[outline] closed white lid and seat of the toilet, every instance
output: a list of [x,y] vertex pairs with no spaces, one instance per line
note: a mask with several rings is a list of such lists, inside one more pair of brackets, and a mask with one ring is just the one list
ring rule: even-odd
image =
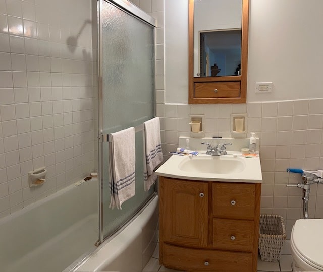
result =
[[292,231],[294,246],[308,262],[323,269],[323,219],[298,219]]

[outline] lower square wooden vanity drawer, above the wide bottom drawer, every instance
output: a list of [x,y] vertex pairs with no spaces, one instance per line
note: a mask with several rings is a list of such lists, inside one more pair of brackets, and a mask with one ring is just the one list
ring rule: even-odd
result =
[[253,250],[254,221],[213,218],[213,247]]

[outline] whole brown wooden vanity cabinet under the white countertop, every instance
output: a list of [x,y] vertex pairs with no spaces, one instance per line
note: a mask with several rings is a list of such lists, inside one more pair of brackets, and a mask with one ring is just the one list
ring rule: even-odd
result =
[[260,183],[159,179],[159,259],[183,271],[256,272]]

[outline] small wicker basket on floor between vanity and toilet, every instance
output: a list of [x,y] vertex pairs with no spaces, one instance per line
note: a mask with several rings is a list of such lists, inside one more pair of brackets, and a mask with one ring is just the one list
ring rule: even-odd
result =
[[259,225],[260,258],[277,262],[286,239],[284,219],[280,215],[261,214]]

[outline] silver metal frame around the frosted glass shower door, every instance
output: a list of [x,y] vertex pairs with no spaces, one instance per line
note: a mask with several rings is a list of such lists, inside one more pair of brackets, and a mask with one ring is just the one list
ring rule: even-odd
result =
[[[102,61],[100,56],[103,54],[103,45],[102,40],[100,39],[102,35],[102,20],[100,18],[100,11],[102,10],[102,2],[111,3],[112,5],[115,5],[116,7],[120,8],[124,12],[128,13],[129,15],[141,20],[142,22],[151,25],[154,27],[154,50],[155,48],[155,28],[156,26],[156,20],[146,14],[144,11],[142,11],[140,8],[132,4],[131,2],[127,0],[97,0],[97,23],[98,23],[98,50],[97,50],[97,64],[98,64],[98,155],[99,155],[99,164],[98,164],[98,178],[99,178],[99,240],[97,241],[96,245],[101,244],[105,239],[111,237],[107,236],[104,237],[103,233],[103,142],[106,141],[106,137],[103,134],[103,86],[102,86]],[[155,89],[153,90],[155,92]],[[155,97],[155,95],[154,95]],[[154,101],[154,115],[156,113],[156,107],[155,107],[155,101]],[[141,203],[141,205],[138,207],[138,210],[140,210],[142,207],[147,205],[147,202],[150,202],[152,198],[156,195],[157,189],[155,187],[155,193],[151,195],[149,199],[147,199],[146,202]],[[138,213],[137,213],[138,214]],[[127,220],[118,230],[116,230],[114,233],[119,231],[120,229],[126,227],[133,219],[135,219],[136,214]]]

